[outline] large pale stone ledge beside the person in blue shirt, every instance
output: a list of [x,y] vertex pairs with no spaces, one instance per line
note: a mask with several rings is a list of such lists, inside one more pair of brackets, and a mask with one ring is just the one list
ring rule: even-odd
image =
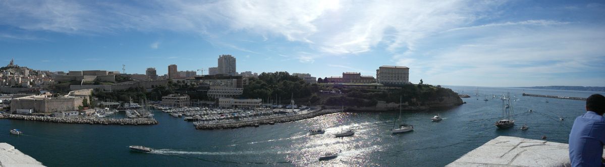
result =
[[447,166],[571,166],[566,143],[499,136]]

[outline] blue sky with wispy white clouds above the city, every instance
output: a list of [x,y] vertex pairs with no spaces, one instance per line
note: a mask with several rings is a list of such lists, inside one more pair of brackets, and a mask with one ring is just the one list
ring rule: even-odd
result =
[[604,16],[605,1],[0,0],[0,65],[207,74],[231,54],[238,72],[604,87]]

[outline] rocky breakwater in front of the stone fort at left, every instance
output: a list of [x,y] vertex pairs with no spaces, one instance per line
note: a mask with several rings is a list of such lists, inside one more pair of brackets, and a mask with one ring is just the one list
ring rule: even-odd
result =
[[0,119],[18,119],[18,120],[33,120],[42,122],[54,123],[87,123],[87,124],[102,124],[102,125],[155,125],[155,119],[85,119],[85,118],[60,118],[60,117],[41,117],[41,116],[24,116],[18,114],[0,114]]

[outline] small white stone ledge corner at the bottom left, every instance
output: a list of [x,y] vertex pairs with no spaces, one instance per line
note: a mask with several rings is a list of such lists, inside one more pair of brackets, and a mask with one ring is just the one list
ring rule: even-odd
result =
[[0,143],[0,166],[44,166],[8,143]]

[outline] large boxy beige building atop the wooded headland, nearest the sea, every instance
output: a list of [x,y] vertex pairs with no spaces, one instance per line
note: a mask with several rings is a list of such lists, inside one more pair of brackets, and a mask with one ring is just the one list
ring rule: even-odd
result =
[[383,65],[376,70],[376,82],[383,85],[410,84],[410,68],[405,66]]

